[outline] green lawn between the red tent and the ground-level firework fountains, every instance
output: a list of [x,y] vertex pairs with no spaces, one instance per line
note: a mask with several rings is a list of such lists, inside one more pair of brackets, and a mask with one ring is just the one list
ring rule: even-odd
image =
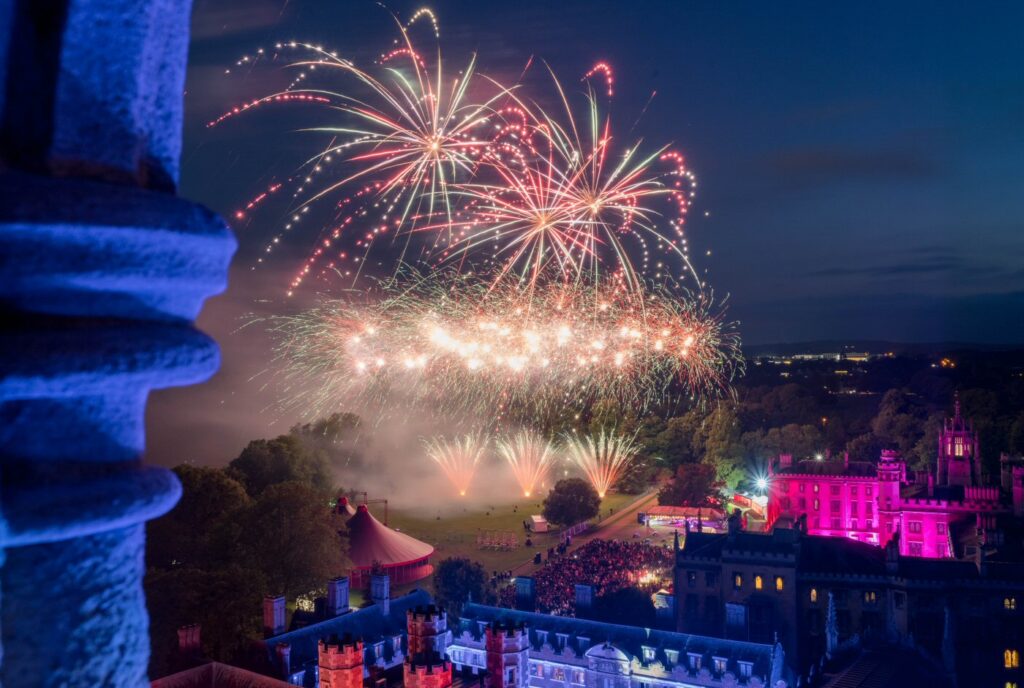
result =
[[[636,494],[608,494],[601,503],[601,518],[606,518],[609,509],[615,513],[637,499]],[[541,513],[541,504],[532,500],[519,500],[506,504],[467,507],[462,512],[444,513],[417,511],[391,507],[388,511],[388,525],[409,533],[434,546],[432,561],[437,563],[447,557],[467,557],[480,562],[488,574],[494,570],[515,568],[534,557],[538,551],[546,552],[559,542],[558,532],[552,528],[548,533],[531,534],[532,548],[523,546],[526,533],[522,522],[531,514]],[[384,514],[375,510],[374,515],[383,519]],[[508,530],[519,539],[519,549],[497,552],[477,548],[476,535],[481,530]],[[426,585],[425,585],[426,584]],[[429,587],[424,580],[412,587]]]

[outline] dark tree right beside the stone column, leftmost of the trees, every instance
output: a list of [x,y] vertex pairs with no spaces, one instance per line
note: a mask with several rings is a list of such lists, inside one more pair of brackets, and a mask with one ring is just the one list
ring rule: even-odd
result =
[[181,500],[146,526],[146,563],[207,568],[223,559],[221,524],[236,520],[252,500],[219,469],[182,464],[174,472],[181,481]]

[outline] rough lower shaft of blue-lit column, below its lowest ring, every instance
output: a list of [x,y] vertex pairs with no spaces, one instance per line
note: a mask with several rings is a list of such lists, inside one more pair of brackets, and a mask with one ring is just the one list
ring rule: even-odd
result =
[[135,525],[7,550],[5,688],[146,685],[143,538]]

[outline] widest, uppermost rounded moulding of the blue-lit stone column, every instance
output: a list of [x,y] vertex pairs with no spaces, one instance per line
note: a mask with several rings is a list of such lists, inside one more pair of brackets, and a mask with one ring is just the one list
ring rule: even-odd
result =
[[226,286],[236,242],[166,193],[0,176],[0,303],[66,315],[194,319]]

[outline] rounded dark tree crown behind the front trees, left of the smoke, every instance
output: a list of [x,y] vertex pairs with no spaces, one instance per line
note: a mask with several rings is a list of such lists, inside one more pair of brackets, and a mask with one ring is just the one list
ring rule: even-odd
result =
[[253,497],[282,482],[301,482],[322,491],[332,487],[326,455],[307,447],[297,434],[249,442],[227,465],[227,474]]

